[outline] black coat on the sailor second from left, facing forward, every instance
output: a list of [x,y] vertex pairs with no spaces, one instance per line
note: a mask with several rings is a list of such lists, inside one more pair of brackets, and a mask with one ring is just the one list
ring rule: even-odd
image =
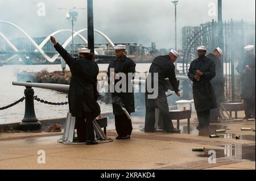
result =
[[[126,108],[126,110],[131,113],[135,111],[134,108],[134,92],[128,92],[129,85],[133,87],[131,79],[128,79],[128,73],[135,73],[135,66],[133,60],[130,58],[123,56],[120,60],[115,59],[114,61],[110,62],[108,67],[108,81],[110,83],[110,68],[114,68],[115,73],[125,73],[126,74],[126,92],[112,92],[112,106],[113,106],[113,113],[114,115],[123,114],[123,110],[121,107]],[[132,77],[134,79],[134,77]],[[119,80],[115,80],[114,85]]]

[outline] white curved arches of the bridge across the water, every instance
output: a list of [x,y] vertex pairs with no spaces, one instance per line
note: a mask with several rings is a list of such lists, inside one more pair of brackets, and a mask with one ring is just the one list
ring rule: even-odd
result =
[[[50,40],[50,36],[54,36],[54,35],[56,35],[57,33],[60,33],[60,32],[72,32],[71,30],[58,30],[58,31],[55,31],[55,32],[51,33],[51,35],[47,36],[46,39],[44,39],[40,45],[38,45],[38,44],[32,39],[32,37],[31,37],[30,35],[28,35],[28,33],[26,33],[24,30],[22,30],[22,28],[20,28],[20,27],[17,26],[16,24],[11,23],[11,22],[7,22],[6,20],[0,20],[0,23],[9,24],[9,25],[13,26],[14,28],[16,28],[18,31],[22,32],[23,35],[25,35],[25,36],[28,38],[28,40],[32,43],[32,45],[34,45],[34,47],[35,47],[34,52],[39,52],[39,53],[42,54],[42,56],[43,56],[44,58],[46,58],[46,60],[49,61],[49,62],[54,62],[54,61],[59,57],[59,53],[56,53],[56,54],[54,54],[52,57],[49,57],[49,56],[46,54],[46,52],[44,52],[44,50],[42,49],[42,48],[44,47],[44,45],[47,43],[47,41]],[[84,41],[85,44],[88,44],[88,41],[85,39],[85,37],[83,37],[83,36],[80,34],[81,32],[84,32],[84,31],[87,31],[87,28],[82,29],[82,30],[79,30],[79,31],[77,31],[77,32],[73,31],[73,37],[79,36],[80,39],[81,39],[82,41]],[[114,47],[113,42],[109,39],[108,36],[106,36],[104,33],[102,33],[102,32],[99,31],[99,30],[95,30],[95,29],[94,29],[94,32],[96,32],[96,33],[98,33],[99,35],[101,35],[102,37],[104,37],[104,39],[105,39],[106,41],[108,41],[108,43],[109,43],[112,47]],[[3,38],[3,40],[6,41],[6,43],[7,43],[8,45],[10,45],[11,49],[13,49],[14,52],[17,52],[17,53],[19,52],[19,50],[15,47],[15,45],[14,45],[13,43],[11,43],[11,41],[10,41],[9,39],[7,39],[7,37],[6,37],[5,35],[3,35],[3,33],[1,32],[1,30],[0,30],[0,36]],[[63,48],[66,48],[66,47],[68,46],[68,44],[71,43],[71,41],[72,41],[72,36],[70,36],[70,37],[65,41],[65,43],[62,45]],[[95,54],[98,54],[96,50],[94,51],[94,53],[95,53]],[[15,54],[14,56],[8,58],[8,60],[11,60],[11,58],[14,58],[15,56],[17,56],[17,54]]]

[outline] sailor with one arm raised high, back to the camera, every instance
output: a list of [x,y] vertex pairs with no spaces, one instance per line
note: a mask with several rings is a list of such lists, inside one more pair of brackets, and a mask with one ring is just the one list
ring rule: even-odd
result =
[[88,49],[81,49],[80,57],[73,58],[53,37],[51,40],[71,70],[68,103],[69,111],[76,117],[77,136],[80,142],[91,144],[95,140],[92,120],[100,115],[97,103],[98,65],[92,61]]

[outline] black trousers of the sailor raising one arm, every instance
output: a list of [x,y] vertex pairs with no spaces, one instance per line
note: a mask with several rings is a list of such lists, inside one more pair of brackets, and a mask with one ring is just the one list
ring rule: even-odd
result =
[[[85,121],[86,120],[86,121]],[[79,142],[94,141],[93,120],[90,113],[83,113],[83,117],[76,117],[76,130]]]

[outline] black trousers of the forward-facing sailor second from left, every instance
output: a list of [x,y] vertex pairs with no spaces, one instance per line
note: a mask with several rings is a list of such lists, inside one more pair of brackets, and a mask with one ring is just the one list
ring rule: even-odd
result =
[[131,120],[128,119],[124,113],[115,115],[115,130],[117,131],[118,136],[125,137],[131,135],[133,125],[131,124]]

